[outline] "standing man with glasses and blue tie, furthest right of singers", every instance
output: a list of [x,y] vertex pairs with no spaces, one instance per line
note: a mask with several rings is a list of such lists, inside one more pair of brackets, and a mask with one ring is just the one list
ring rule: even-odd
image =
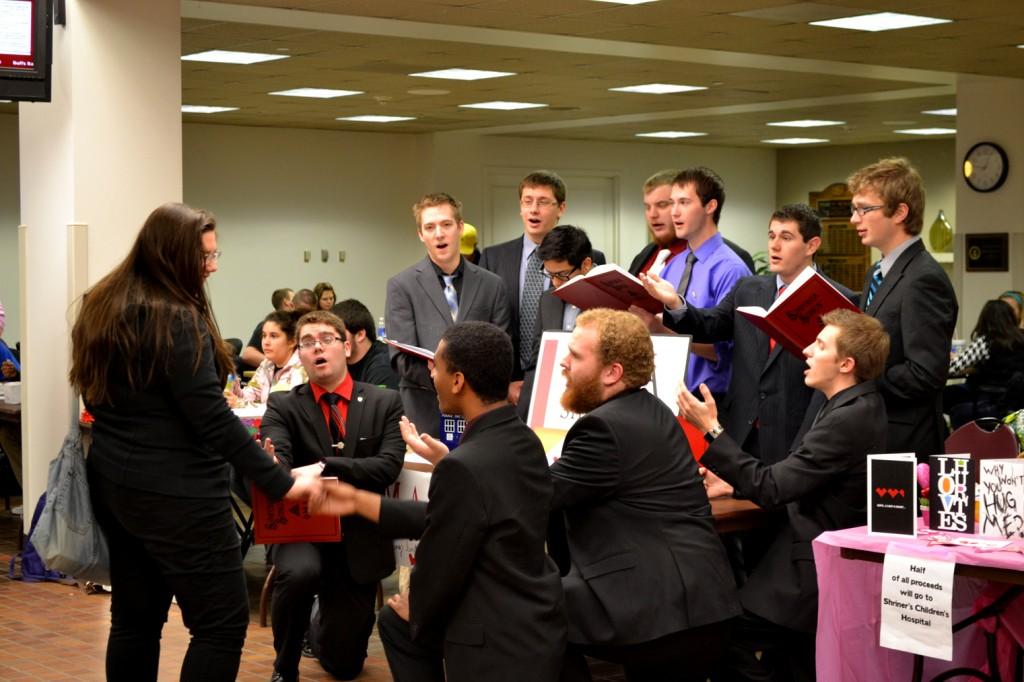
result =
[[883,159],[847,180],[850,222],[882,252],[864,278],[860,309],[879,319],[890,354],[879,378],[889,414],[889,450],[919,459],[942,452],[942,389],[956,325],[949,278],[921,239],[925,188],[906,159]]

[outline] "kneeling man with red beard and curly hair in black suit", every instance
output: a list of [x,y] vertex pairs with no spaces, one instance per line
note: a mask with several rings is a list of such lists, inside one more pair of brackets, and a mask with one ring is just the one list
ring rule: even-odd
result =
[[561,367],[562,407],[584,415],[551,467],[571,556],[562,680],[589,680],[590,655],[629,679],[702,681],[740,608],[689,445],[643,388],[650,335],[629,312],[588,310]]

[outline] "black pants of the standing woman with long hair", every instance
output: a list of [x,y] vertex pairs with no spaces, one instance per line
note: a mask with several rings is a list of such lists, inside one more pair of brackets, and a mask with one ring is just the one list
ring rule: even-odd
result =
[[91,470],[89,486],[111,550],[106,679],[157,679],[160,636],[174,596],[191,634],[181,680],[234,680],[249,604],[227,498],[144,493]]

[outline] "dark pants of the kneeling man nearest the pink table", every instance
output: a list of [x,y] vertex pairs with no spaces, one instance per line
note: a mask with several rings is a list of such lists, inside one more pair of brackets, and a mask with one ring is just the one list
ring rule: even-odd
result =
[[815,679],[814,635],[743,611],[732,645],[711,678],[714,682],[810,682]]

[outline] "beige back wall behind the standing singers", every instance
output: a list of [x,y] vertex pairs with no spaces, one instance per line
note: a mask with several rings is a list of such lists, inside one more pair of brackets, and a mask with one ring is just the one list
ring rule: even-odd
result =
[[[0,116],[0,147],[17,148],[16,121]],[[444,189],[465,203],[467,219],[479,222],[486,208],[486,176],[495,169],[550,168],[615,177],[618,241],[613,247],[597,246],[617,251],[618,260],[628,262],[646,242],[640,186],[655,170],[715,168],[727,188],[723,231],[755,252],[763,248],[765,220],[775,206],[807,201],[808,191],[892,154],[907,156],[921,169],[928,188],[926,230],[939,208],[955,228],[957,164],[951,140],[776,152],[191,124],[183,132],[185,201],[217,215],[225,254],[211,280],[214,305],[225,335],[243,338],[267,311],[270,293],[279,287],[298,289],[327,280],[339,296],[359,298],[375,316],[383,314],[387,278],[423,254],[410,215],[413,201]],[[3,155],[0,299],[15,325],[5,336],[15,340],[16,183],[16,157]],[[571,215],[571,186],[569,205]],[[311,252],[309,263],[302,260],[305,249]],[[329,250],[328,263],[321,262],[321,249]],[[339,250],[346,252],[344,263],[338,262]]]

